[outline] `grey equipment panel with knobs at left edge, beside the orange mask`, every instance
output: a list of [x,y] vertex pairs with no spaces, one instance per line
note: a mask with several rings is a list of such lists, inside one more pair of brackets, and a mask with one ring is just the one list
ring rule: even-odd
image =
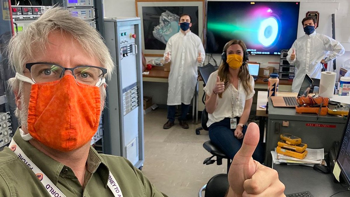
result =
[[0,113],[0,147],[10,143],[12,140],[12,130],[10,122],[10,113]]

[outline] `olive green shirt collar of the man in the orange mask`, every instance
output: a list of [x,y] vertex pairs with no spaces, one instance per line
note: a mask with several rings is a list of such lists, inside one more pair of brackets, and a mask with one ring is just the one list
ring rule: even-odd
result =
[[[64,164],[56,161],[55,159],[45,155],[40,150],[36,149],[28,141],[22,139],[19,129],[13,136],[14,141],[19,145],[22,151],[27,157],[42,171],[44,174],[54,183],[57,184],[59,174],[63,168],[66,167]],[[105,187],[109,178],[109,169],[104,162],[104,159],[97,153],[97,151],[90,147],[89,155],[87,156],[87,171],[90,173],[97,172],[102,179]]]

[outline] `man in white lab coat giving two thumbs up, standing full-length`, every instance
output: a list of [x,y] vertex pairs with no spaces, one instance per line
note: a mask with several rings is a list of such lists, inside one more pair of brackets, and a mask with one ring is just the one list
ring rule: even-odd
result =
[[188,129],[186,115],[193,98],[197,83],[197,66],[205,59],[205,51],[201,39],[191,32],[191,17],[182,14],[179,19],[180,32],[167,42],[164,60],[170,62],[168,88],[168,121],[164,129],[174,125],[176,105],[181,104],[179,122],[182,128]]

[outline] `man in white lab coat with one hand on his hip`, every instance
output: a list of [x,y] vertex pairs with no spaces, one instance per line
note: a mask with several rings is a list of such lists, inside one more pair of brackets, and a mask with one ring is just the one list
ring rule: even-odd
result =
[[338,41],[316,33],[315,17],[308,16],[301,23],[305,35],[294,41],[287,56],[290,64],[295,63],[293,92],[299,92],[305,74],[308,74],[311,78],[320,79],[322,64],[336,59],[345,52],[344,47]]

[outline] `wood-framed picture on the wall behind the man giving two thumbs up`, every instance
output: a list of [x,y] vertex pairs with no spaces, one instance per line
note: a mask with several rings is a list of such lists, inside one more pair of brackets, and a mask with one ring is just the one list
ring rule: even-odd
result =
[[135,0],[135,6],[146,56],[163,56],[169,38],[180,31],[181,14],[190,15],[191,32],[204,37],[205,0]]

